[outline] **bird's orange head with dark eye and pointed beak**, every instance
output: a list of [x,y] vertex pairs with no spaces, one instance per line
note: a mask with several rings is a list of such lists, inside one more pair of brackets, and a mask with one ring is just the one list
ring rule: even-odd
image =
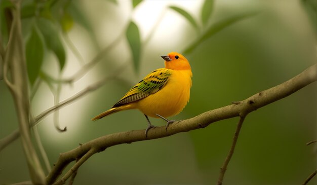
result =
[[188,60],[180,53],[171,52],[161,56],[165,60],[165,68],[173,70],[191,69]]

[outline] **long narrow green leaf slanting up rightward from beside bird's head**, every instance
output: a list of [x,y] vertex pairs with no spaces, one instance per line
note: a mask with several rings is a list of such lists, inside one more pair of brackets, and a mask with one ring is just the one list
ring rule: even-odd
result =
[[251,16],[256,15],[257,13],[246,13],[242,15],[233,16],[224,20],[220,20],[214,24],[212,24],[202,36],[197,39],[193,44],[191,44],[189,47],[187,47],[183,53],[190,53],[192,52],[197,46],[199,46],[201,43],[209,39],[212,35],[216,34],[217,32],[221,31],[222,29],[230,26],[231,24],[249,18]]

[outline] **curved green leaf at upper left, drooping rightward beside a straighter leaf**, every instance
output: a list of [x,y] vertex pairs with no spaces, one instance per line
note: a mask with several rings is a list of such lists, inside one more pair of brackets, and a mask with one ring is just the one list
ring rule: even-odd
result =
[[41,30],[44,41],[49,50],[51,50],[57,57],[60,70],[65,65],[65,49],[58,33],[58,28],[48,19],[40,18],[37,20],[39,30]]

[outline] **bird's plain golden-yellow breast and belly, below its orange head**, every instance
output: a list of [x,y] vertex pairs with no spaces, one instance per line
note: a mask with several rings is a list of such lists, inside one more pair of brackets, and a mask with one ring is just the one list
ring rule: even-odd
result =
[[143,114],[157,118],[155,114],[170,117],[179,114],[189,101],[191,70],[171,70],[167,84],[159,91],[137,102],[135,107]]

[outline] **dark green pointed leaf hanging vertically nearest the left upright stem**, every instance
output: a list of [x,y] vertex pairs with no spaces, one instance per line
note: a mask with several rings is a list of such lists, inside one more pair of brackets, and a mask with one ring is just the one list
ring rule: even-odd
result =
[[25,46],[25,57],[27,65],[27,73],[31,85],[34,84],[38,77],[39,70],[41,69],[44,56],[44,46],[41,36],[35,27],[32,28],[32,32]]

